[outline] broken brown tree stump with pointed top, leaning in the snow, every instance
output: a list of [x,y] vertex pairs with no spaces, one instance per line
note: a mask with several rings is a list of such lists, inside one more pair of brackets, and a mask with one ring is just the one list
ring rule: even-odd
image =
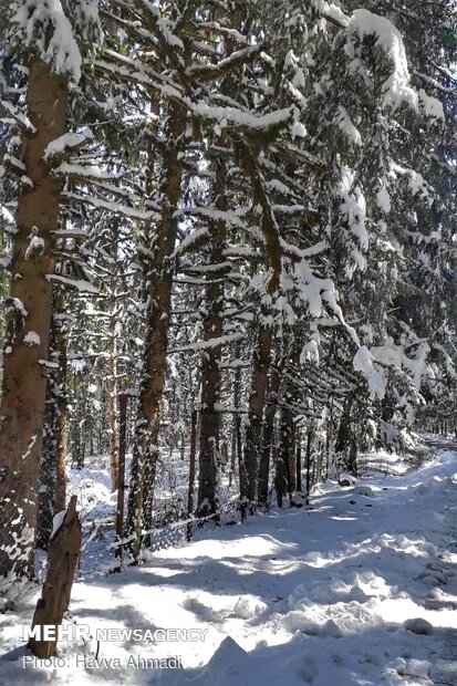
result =
[[[81,521],[76,512],[76,496],[72,496],[62,523],[49,541],[46,579],[32,622],[32,628],[41,627],[40,634],[39,637],[32,636],[28,644],[41,659],[55,655],[59,626],[69,607],[80,550]],[[53,632],[49,628],[51,626]]]

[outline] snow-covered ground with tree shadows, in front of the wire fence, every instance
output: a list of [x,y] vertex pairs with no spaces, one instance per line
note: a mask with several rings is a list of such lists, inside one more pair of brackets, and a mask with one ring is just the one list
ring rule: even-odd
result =
[[[121,667],[101,668],[95,644],[62,643],[65,666],[23,668],[31,596],[0,615],[0,684],[457,686],[457,454],[407,472],[392,461],[395,475],[320,487],[311,509],[208,531],[73,588],[72,617],[93,634],[199,627],[205,641],[102,642],[98,662]],[[126,666],[175,655],[183,669]]]

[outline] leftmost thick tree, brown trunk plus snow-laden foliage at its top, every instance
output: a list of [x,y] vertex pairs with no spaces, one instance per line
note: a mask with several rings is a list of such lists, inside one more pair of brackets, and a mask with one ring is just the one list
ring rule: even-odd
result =
[[[73,9],[79,8],[76,2]],[[22,574],[33,560],[52,314],[49,277],[61,202],[53,153],[65,147],[69,81],[80,79],[81,54],[59,0],[44,7],[21,0],[9,12],[17,61],[24,46],[28,83],[23,107],[10,107],[21,132],[23,176],[3,346],[0,501],[9,523],[0,532],[0,573]]]

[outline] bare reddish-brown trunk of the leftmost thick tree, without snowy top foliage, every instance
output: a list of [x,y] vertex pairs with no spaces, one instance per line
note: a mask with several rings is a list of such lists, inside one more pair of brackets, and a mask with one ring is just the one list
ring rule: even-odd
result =
[[[18,198],[4,345],[0,423],[0,574],[32,570],[46,366],[52,311],[60,181],[43,154],[65,132],[66,79],[35,58],[29,67],[28,116],[35,127],[24,134],[22,163],[32,186]],[[34,332],[37,336],[32,335]],[[29,334],[29,337],[27,335]],[[39,344],[28,344],[28,342]]]

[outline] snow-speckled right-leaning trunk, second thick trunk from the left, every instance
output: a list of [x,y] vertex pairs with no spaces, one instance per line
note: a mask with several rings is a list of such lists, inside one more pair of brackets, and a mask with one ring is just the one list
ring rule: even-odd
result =
[[146,335],[128,492],[127,528],[134,533],[132,552],[135,558],[142,544],[142,529],[152,527],[158,434],[163,415],[174,271],[170,256],[177,236],[176,210],[183,175],[180,153],[186,129],[185,113],[175,103],[169,104],[166,128],[167,143],[160,183],[162,218],[148,247],[150,261],[145,283],[148,295]]

